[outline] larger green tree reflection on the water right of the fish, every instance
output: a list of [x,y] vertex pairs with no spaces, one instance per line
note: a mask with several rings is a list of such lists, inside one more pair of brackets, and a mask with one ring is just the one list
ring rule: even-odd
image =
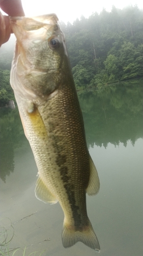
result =
[[142,81],[79,95],[88,146],[127,145],[142,137]]

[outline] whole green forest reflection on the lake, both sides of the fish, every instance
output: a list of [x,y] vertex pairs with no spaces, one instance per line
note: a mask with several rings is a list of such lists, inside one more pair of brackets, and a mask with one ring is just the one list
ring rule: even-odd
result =
[[[108,143],[134,145],[143,137],[142,84],[137,86],[123,83],[78,95],[83,114],[88,147],[107,147]],[[25,137],[18,110],[1,109],[0,135],[0,177],[6,182],[6,175],[14,170],[14,149],[20,147]]]

